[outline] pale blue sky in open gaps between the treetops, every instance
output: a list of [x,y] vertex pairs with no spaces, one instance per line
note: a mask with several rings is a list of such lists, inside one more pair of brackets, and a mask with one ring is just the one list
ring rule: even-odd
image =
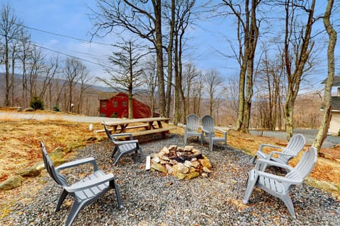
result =
[[[1,5],[8,4],[14,9],[19,19],[29,28],[44,30],[69,37],[77,37],[81,40],[91,39],[92,24],[89,19],[91,11],[89,6],[94,8],[96,1],[87,0],[1,0]],[[323,9],[319,10],[323,11]],[[225,37],[234,36],[235,32],[232,20],[203,20],[198,21],[197,26],[188,30],[191,35],[190,47],[187,61],[193,61],[198,69],[217,69],[221,75],[227,78],[237,76],[239,66],[234,59],[221,57],[216,49],[231,53]],[[229,23],[229,24],[228,24]],[[67,37],[48,34],[34,29],[27,29],[33,42],[48,49],[69,54],[80,59],[85,59],[84,64],[89,69],[91,76],[107,76],[101,66],[91,64],[105,64],[108,56],[114,51],[113,47],[81,42]],[[193,37],[195,37],[193,39]],[[117,40],[115,35],[108,35],[99,39],[94,37],[94,42],[111,44]],[[259,47],[258,47],[259,48]],[[46,54],[55,54],[45,50]],[[62,56],[64,57],[64,56]],[[315,71],[316,83],[326,78],[326,64]]]

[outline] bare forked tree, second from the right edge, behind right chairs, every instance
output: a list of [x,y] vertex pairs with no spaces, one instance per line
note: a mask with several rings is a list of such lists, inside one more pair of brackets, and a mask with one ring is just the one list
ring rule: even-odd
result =
[[[304,5],[300,5],[304,4]],[[310,6],[297,0],[285,0],[285,73],[288,78],[288,93],[283,107],[285,116],[285,130],[287,139],[293,136],[293,113],[297,93],[300,90],[302,75],[306,71],[305,65],[310,57],[314,42],[311,39],[312,24],[314,23],[315,0]],[[307,23],[297,25],[295,11],[301,9],[307,13]],[[297,30],[300,28],[300,30]],[[297,35],[297,36],[295,36]],[[290,52],[292,51],[294,54]]]

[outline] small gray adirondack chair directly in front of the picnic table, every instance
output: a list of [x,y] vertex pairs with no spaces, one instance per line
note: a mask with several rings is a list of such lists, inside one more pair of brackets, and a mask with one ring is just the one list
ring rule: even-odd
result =
[[[103,121],[103,125],[108,139],[115,145],[111,155],[111,157],[113,158],[113,165],[118,162],[121,156],[133,152],[137,153],[138,150],[140,150],[140,159],[142,160],[142,148],[140,147],[140,143],[138,142],[138,140],[133,139],[132,133],[111,134],[110,131],[108,131],[108,127],[106,126],[105,121]],[[128,136],[130,138],[130,141],[118,141],[117,138],[120,136]]]

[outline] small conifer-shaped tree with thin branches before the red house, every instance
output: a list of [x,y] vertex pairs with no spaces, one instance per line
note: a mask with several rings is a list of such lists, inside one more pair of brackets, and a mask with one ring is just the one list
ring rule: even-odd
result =
[[109,80],[98,78],[112,88],[116,87],[116,84],[120,85],[128,92],[129,100],[129,119],[133,118],[133,104],[132,97],[136,88],[142,85],[140,76],[142,75],[141,61],[145,57],[147,52],[141,52],[142,48],[139,44],[136,44],[134,40],[128,40],[120,44],[116,44],[119,50],[113,52],[113,56],[109,57],[109,61],[113,65],[112,69],[106,71],[110,73],[111,78]]

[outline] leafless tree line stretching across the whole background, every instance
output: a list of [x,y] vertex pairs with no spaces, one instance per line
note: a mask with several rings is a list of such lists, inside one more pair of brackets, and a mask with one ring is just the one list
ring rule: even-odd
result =
[[[104,69],[111,77],[96,79],[112,88],[123,88],[130,100],[142,90],[151,108],[157,107],[161,117],[173,118],[174,124],[185,123],[187,114],[204,113],[223,124],[234,124],[244,133],[253,127],[285,129],[290,138],[295,125],[305,123],[314,127],[319,122],[313,112],[308,121],[294,116],[294,110],[303,81],[314,73],[320,60],[326,61],[318,58],[322,49],[315,44],[322,34],[329,37],[329,74],[328,88],[317,106],[330,109],[331,94],[326,92],[331,92],[334,77],[331,48],[335,47],[336,31],[330,22],[333,4],[329,0],[326,11],[320,12],[315,0],[208,3],[97,0],[96,8],[91,9],[92,34],[103,37],[115,33],[122,37],[122,42],[115,44],[117,50],[108,59],[110,66]],[[200,20],[209,19],[234,22],[226,31],[235,37],[226,40],[229,49],[217,50],[221,57],[232,58],[239,66],[238,74],[229,80],[216,69],[203,71],[187,60],[191,38],[195,38],[188,31]],[[321,20],[323,28],[316,25]],[[62,106],[71,111],[77,95],[77,112],[81,113],[91,83],[86,66],[74,58],[64,59],[62,63],[59,57],[47,59],[30,42],[30,35],[21,24],[10,6],[2,7],[0,63],[4,65],[6,78],[4,105],[25,107],[38,96],[50,107]],[[13,75],[18,67],[22,73],[20,98],[13,92]],[[55,80],[51,83],[57,76],[63,78],[62,83]],[[325,112],[329,119],[330,111]],[[328,126],[326,119],[324,115],[322,128]],[[319,136],[324,137],[325,132]]]

